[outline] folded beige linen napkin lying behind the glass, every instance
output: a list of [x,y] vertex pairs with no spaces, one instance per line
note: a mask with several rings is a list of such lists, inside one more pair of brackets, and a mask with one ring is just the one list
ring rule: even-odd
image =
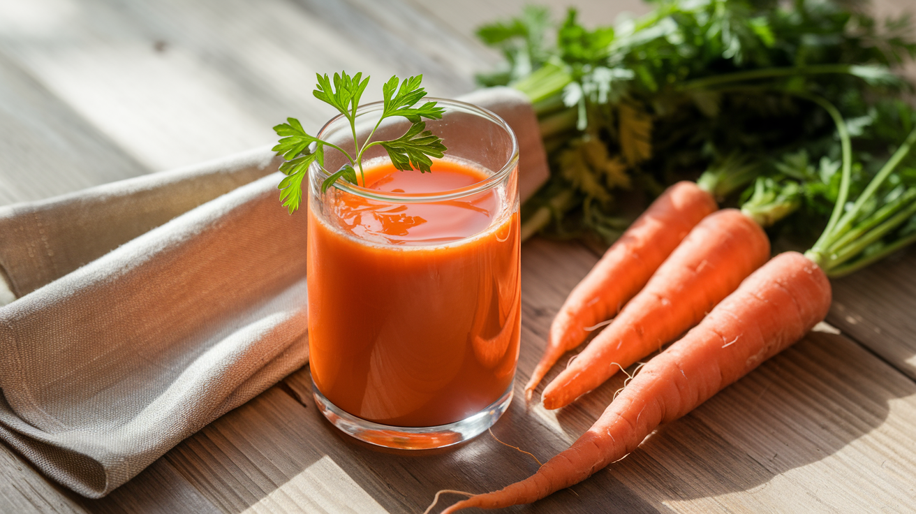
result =
[[[505,88],[519,190],[547,178],[537,120]],[[0,438],[100,498],[304,365],[306,216],[268,148],[0,208]],[[2,304],[2,303],[0,303]]]

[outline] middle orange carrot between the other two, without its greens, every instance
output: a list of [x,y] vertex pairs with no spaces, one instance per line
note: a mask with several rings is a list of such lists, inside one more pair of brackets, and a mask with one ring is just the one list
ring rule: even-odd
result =
[[617,371],[703,320],[769,258],[769,238],[736,209],[706,216],[614,322],[544,388],[547,409],[565,407]]

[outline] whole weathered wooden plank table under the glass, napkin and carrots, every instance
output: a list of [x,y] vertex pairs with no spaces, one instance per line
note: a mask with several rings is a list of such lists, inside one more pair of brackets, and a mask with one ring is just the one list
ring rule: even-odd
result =
[[[635,0],[575,3],[591,24],[645,10]],[[317,127],[330,112],[311,97],[315,71],[346,67],[376,81],[422,72],[433,95],[468,92],[474,71],[498,61],[474,27],[520,5],[0,2],[0,204],[265,144],[287,115]],[[903,5],[916,10],[913,0],[878,8]],[[523,246],[517,393],[551,316],[596,259],[576,243]],[[835,280],[827,321],[842,334],[810,334],[626,460],[512,511],[916,509],[916,251]],[[488,434],[426,453],[356,443],[315,409],[308,374],[214,421],[100,500],[50,483],[0,444],[0,511],[421,512],[438,489],[489,490],[538,467]],[[560,412],[526,410],[517,397],[493,432],[546,460],[620,386],[612,380]]]

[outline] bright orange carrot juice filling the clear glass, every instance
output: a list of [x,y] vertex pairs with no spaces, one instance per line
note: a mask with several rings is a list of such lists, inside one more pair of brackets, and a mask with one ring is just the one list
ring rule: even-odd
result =
[[[484,179],[446,160],[431,173],[365,169],[376,191]],[[460,421],[499,399],[518,359],[518,213],[496,191],[428,203],[331,192],[323,217],[309,206],[309,360],[322,394],[404,427]]]

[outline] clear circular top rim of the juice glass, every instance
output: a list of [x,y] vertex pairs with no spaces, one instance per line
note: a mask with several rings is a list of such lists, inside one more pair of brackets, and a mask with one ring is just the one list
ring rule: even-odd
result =
[[[512,127],[506,123],[499,115],[496,115],[493,111],[485,109],[479,105],[468,104],[467,102],[462,102],[460,100],[449,100],[445,98],[436,98],[436,97],[424,97],[424,101],[427,102],[436,102],[438,104],[452,105],[460,107],[465,111],[471,111],[475,115],[488,119],[497,126],[500,126],[503,130],[509,135],[509,139],[512,143],[512,151],[509,154],[509,157],[503,167],[496,171],[493,175],[485,178],[484,180],[479,180],[474,182],[469,186],[464,186],[463,188],[446,190],[446,191],[434,191],[434,192],[392,192],[392,191],[377,191],[363,186],[358,186],[356,184],[351,184],[344,180],[336,180],[333,183],[333,187],[340,190],[346,191],[356,196],[363,198],[368,198],[371,200],[380,200],[383,202],[399,202],[399,203],[413,203],[413,202],[442,202],[446,200],[454,200],[456,198],[463,198],[465,196],[470,196],[479,192],[484,192],[490,189],[499,183],[500,180],[506,178],[506,176],[512,172],[515,168],[518,167],[518,138],[515,135],[515,132],[512,130]],[[382,101],[372,102],[370,104],[363,104],[356,107],[356,115],[364,115],[366,113],[371,113],[380,110],[385,106],[385,103]],[[446,115],[448,113],[446,112]],[[341,119],[346,119],[343,114],[335,115],[333,118],[328,120],[327,123],[322,126],[322,129],[318,132],[318,137],[322,138],[324,136],[324,131],[328,130],[329,127],[333,126],[334,123],[339,122]],[[447,151],[447,150],[446,150]],[[317,172],[313,173],[312,170],[316,169]],[[309,166],[309,176],[310,180],[315,178],[317,175],[318,179],[321,179],[318,183],[321,183],[324,179],[327,179],[331,175],[327,173],[327,170],[324,170],[323,167],[318,165],[318,162],[313,161]],[[314,185],[310,187],[315,187]]]

